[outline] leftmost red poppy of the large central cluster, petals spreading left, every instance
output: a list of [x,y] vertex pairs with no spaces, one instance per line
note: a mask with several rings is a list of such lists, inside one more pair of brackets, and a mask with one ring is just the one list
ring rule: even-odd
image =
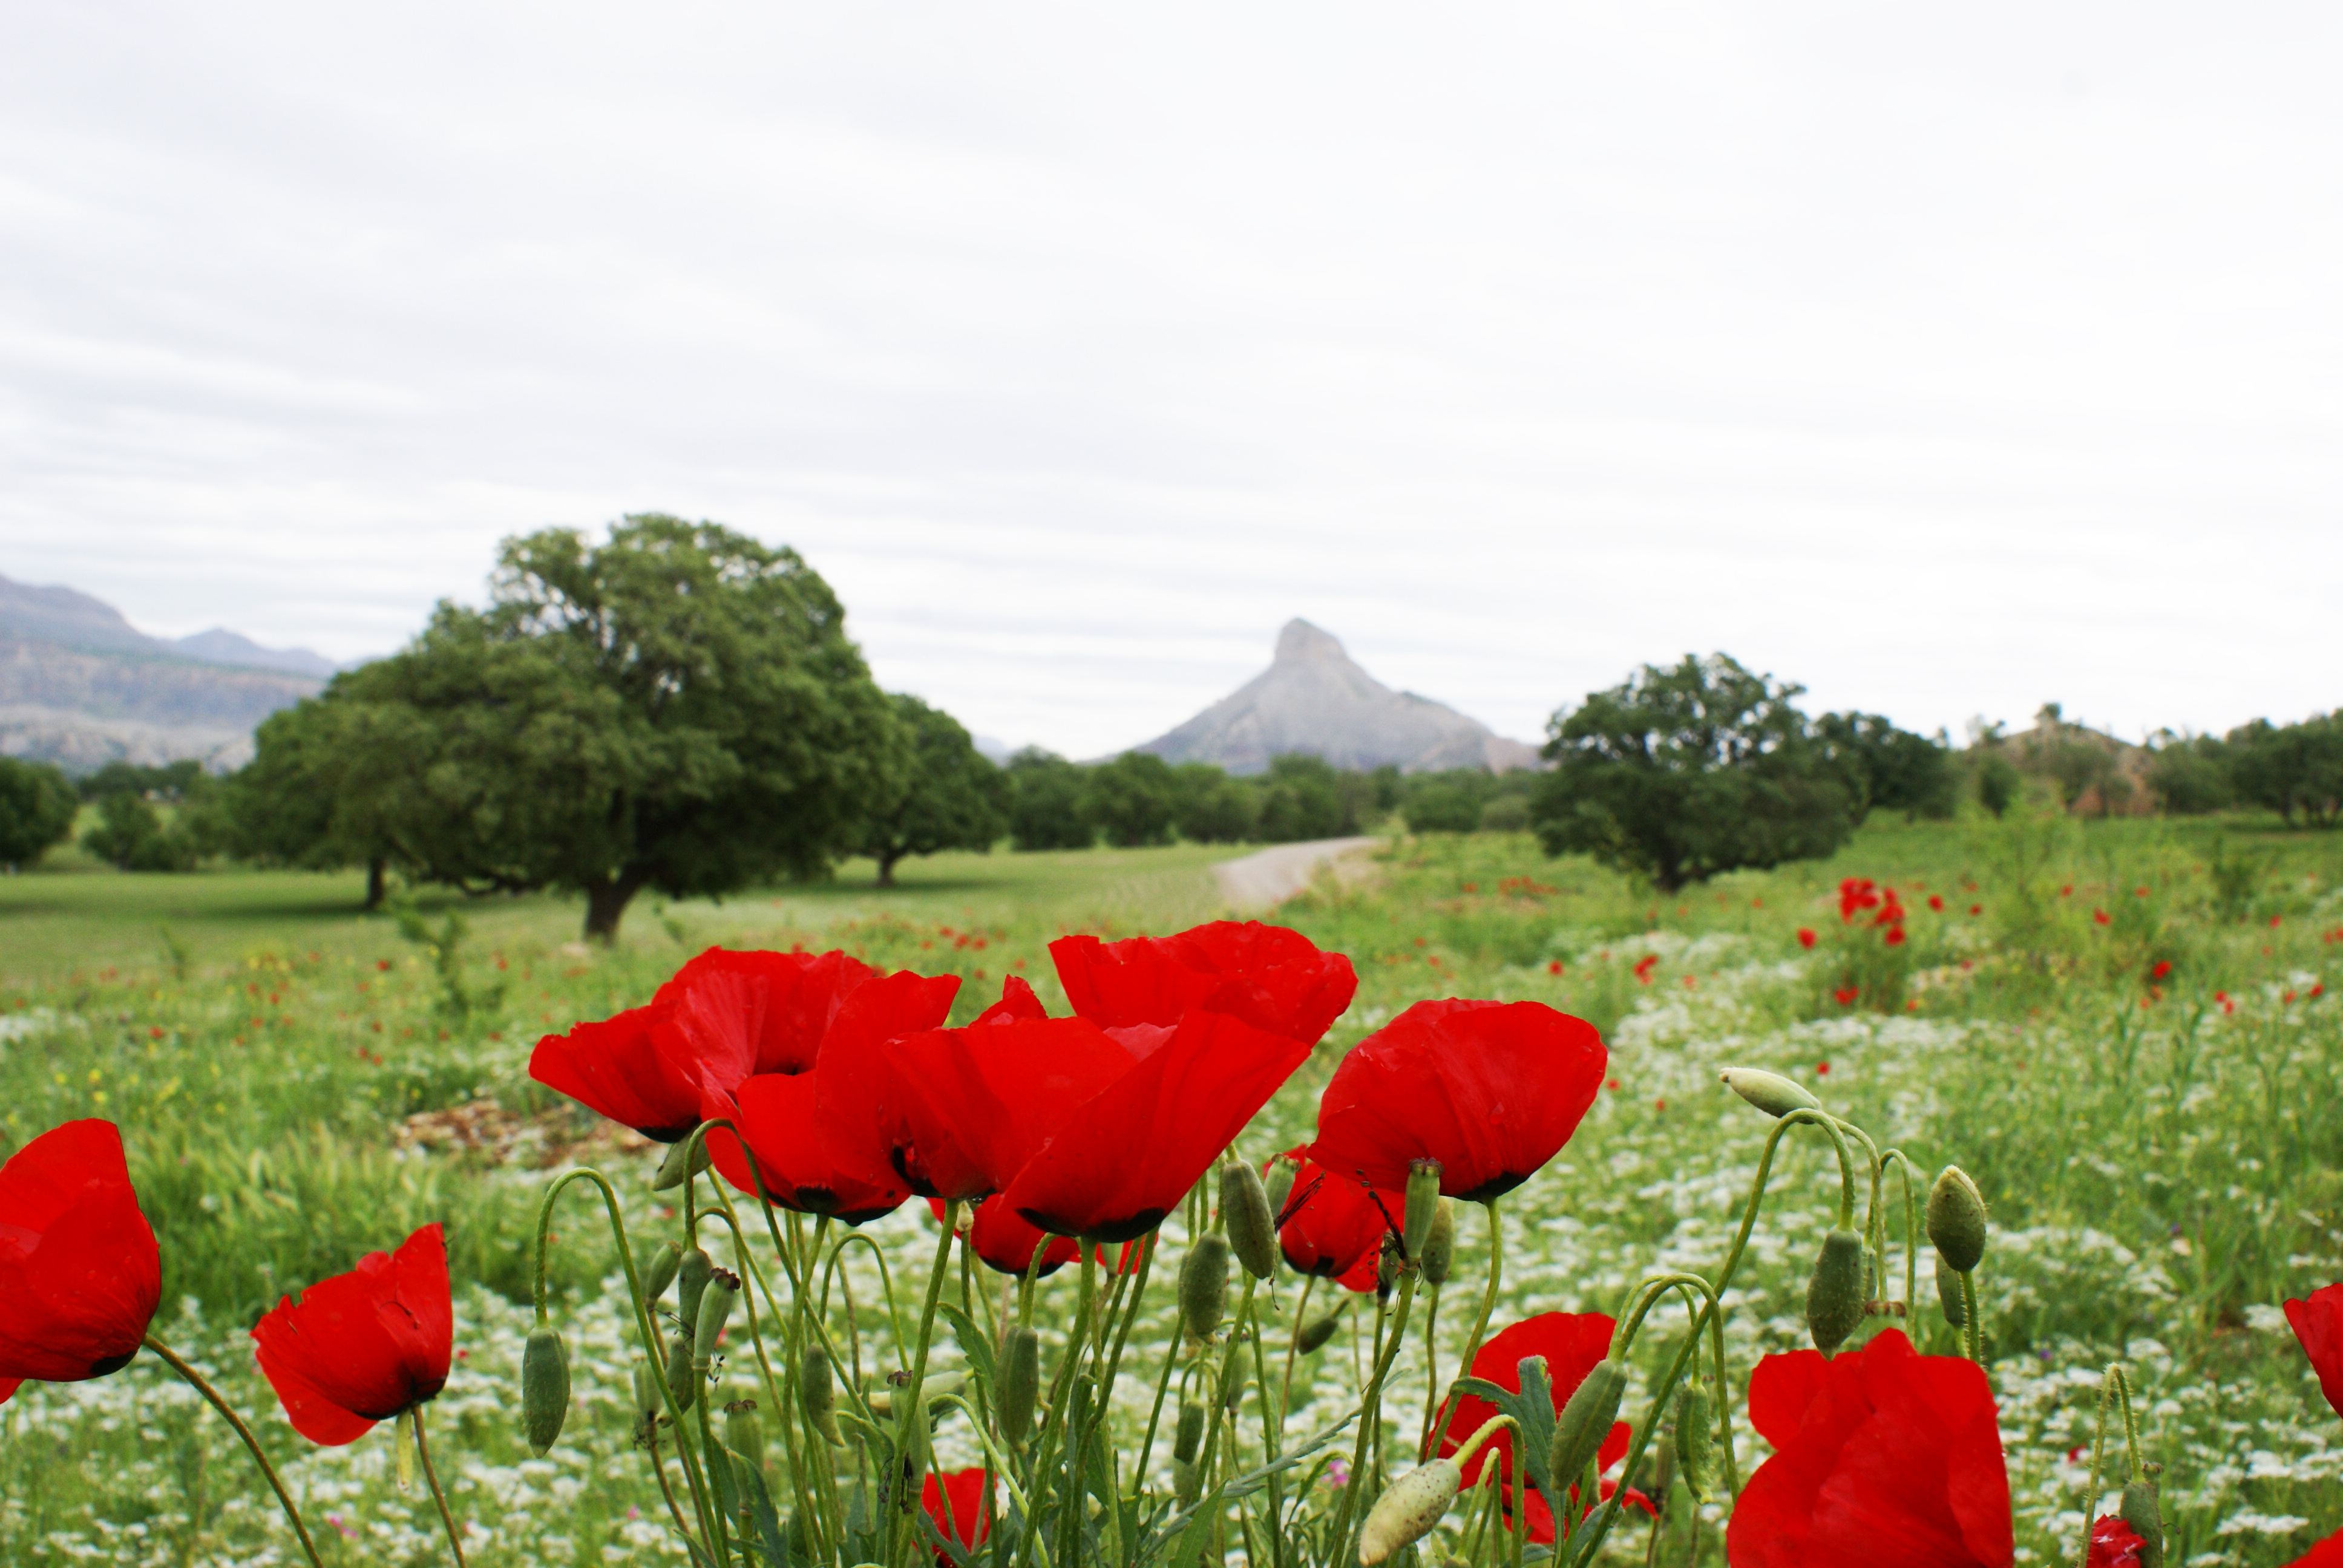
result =
[[841,952],[771,954],[710,947],[642,1008],[548,1034],[530,1076],[588,1111],[675,1144],[701,1125],[708,1088],[813,1064],[839,998],[874,970]]

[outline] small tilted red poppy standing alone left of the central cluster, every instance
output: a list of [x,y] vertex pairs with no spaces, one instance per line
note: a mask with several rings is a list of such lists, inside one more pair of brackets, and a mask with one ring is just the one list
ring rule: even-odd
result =
[[448,1240],[424,1226],[398,1252],[370,1252],[347,1275],[281,1298],[253,1327],[260,1371],[293,1430],[351,1444],[448,1385],[455,1308]]

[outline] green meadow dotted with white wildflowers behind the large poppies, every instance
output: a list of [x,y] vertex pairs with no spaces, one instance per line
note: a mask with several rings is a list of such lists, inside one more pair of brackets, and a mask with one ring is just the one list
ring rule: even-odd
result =
[[[389,1425],[316,1446],[286,1423],[251,1329],[286,1291],[433,1221],[455,1284],[455,1359],[426,1409],[466,1561],[689,1561],[675,1523],[689,1505],[670,1507],[665,1472],[637,1441],[635,1303],[579,1186],[544,1249],[569,1413],[544,1458],[522,1434],[546,1184],[602,1170],[637,1238],[672,1235],[689,1202],[651,1191],[663,1146],[532,1080],[532,1048],[647,1003],[710,945],[843,949],[881,973],[956,975],[956,1027],[1012,977],[1064,1015],[1050,942],[1211,919],[1211,858],[1188,846],[940,855],[907,865],[883,895],[851,867],[827,888],[640,909],[614,949],[569,942],[574,907],[546,900],[361,919],[337,907],[349,886],[319,877],[223,877],[211,905],[194,886],[206,879],[21,877],[0,888],[0,1153],[75,1118],[119,1125],[159,1242],[155,1334],[253,1423],[321,1561],[448,1561],[450,1542],[431,1493],[401,1486]],[[1237,1134],[1251,1167],[1310,1144],[1345,1052],[1422,998],[1544,1003],[1607,1048],[1567,1144],[1495,1207],[1490,1345],[1549,1313],[1624,1317],[1638,1280],[1661,1270],[1713,1273],[1781,1127],[1717,1073],[1767,1069],[1879,1148],[1910,1153],[1921,1186],[1959,1165],[1982,1191],[1992,1226],[1973,1275],[1975,1348],[2008,1458],[2015,1561],[2076,1561],[2088,1519],[2113,1509],[2120,1444],[2102,1470],[2109,1495],[2085,1498],[2109,1362],[2127,1366],[2142,1453],[2163,1467],[2165,1561],[2291,1563],[2343,1528],[2343,1420],[2282,1313],[2343,1280],[2343,1013],[2331,994],[2343,839],[2242,818],[1874,823],[1828,863],[1661,898],[1586,860],[1546,860],[1523,834],[1429,834],[1378,851],[1375,877],[1321,884],[1263,919],[1347,954],[1357,996]],[[1809,1273],[1842,1198],[1832,1139],[1811,1125],[1790,1127],[1774,1172],[1722,1296],[1727,1477],[1741,1481],[1769,1453],[1741,1411],[1753,1366],[1809,1343]],[[1914,1310],[1870,1313],[1846,1343],[1900,1331],[1926,1355],[1961,1355],[1938,1305],[1938,1252],[1912,1245],[1893,1174],[1884,1193],[1879,1296],[1893,1301],[1872,1305]],[[1176,1409],[1207,1357],[1167,1359],[1183,1338],[1169,1275],[1211,1207],[1204,1193],[1169,1214],[1157,1284],[1129,1294],[1132,1352],[1108,1397],[1115,1430],[1146,1441],[1111,1455],[1111,1493],[1139,1474],[1174,1477]],[[1457,1205],[1453,1273],[1415,1294],[1387,1362],[1380,1441],[1340,1432],[1277,1477],[1289,1500],[1326,1500],[1317,1519],[1354,1523],[1333,1505],[1343,1491],[1364,1514],[1422,1439],[1460,1430],[1457,1411],[1436,1406],[1476,1334],[1485,1223],[1485,1209]],[[848,1376],[879,1390],[909,1359],[940,1226],[911,1200],[858,1235],[872,1245],[836,1254],[834,1320]],[[729,1242],[710,1249],[731,1263]],[[771,1256],[761,1266],[771,1273]],[[940,1277],[923,1390],[991,1385],[1012,1315],[1038,1329],[1045,1366],[1080,1334],[1078,1266],[1040,1280],[1033,1305],[965,1252]],[[1265,1350],[1256,1397],[1291,1364],[1289,1446],[1340,1425],[1373,1376],[1373,1266],[1352,1284],[1368,1289],[1277,1268],[1258,1296],[1244,1287]],[[1331,1338],[1300,1352],[1296,1329],[1343,1301]],[[1666,1444],[1640,1441],[1642,1390],[1685,1338],[1685,1298],[1649,1305],[1649,1324],[1619,1409],[1638,1427],[1635,1453],[1621,1463],[1605,1446],[1591,1467],[1607,1472],[1603,1495],[1626,1481],[1657,1519],[1619,1507],[1598,1561],[1722,1563],[1729,1484],[1696,1500]],[[738,1327],[724,1343],[731,1362],[701,1395],[717,1411],[761,1388]],[[1560,1380],[1572,1352],[1537,1350]],[[1169,1409],[1164,1378],[1176,1378]],[[769,1411],[776,1467],[780,1425]],[[986,1463],[970,1420],[947,1416],[933,1441],[937,1477]],[[1511,1507],[1460,1502],[1410,1549],[1500,1561],[1488,1552],[1507,1530],[1485,1521]],[[951,1521],[968,1540],[958,1512]],[[1268,1526],[1235,1509],[1228,1521],[1218,1545],[1232,1559],[1284,1561]],[[1518,1561],[1544,1552],[1514,1549]],[[1029,1561],[1043,1556],[1057,1561]],[[305,1561],[237,1434],[157,1355],[91,1380],[28,1380],[0,1404],[0,1561],[77,1559]]]

